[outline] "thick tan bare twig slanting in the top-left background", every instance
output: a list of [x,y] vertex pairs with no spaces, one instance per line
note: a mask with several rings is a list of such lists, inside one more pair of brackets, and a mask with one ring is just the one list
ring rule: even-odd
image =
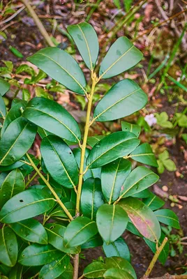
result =
[[27,0],[22,0],[22,3],[27,7],[27,10],[29,10],[29,13],[31,14],[31,17],[33,17],[34,22],[36,23],[38,29],[40,30],[40,33],[43,35],[43,38],[45,38],[46,42],[50,47],[54,47],[54,43],[52,42],[49,34],[45,30],[45,27],[43,26],[43,23],[39,20],[38,15],[36,15],[35,11],[31,7],[29,1]]

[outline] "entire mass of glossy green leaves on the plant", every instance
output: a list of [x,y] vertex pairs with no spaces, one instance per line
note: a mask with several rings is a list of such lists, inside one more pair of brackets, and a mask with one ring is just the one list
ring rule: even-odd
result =
[[[93,69],[99,47],[93,27],[82,23],[68,27],[68,32],[91,70],[93,86],[142,59],[142,53],[128,38],[121,37],[110,47],[96,78]],[[58,47],[47,47],[28,60],[71,91],[86,95],[90,102],[84,74],[70,54]],[[164,202],[148,190],[158,181],[158,175],[142,165],[132,170],[132,160],[157,167],[151,146],[140,144],[140,126],[122,122],[122,131],[105,137],[86,137],[85,149],[73,116],[46,96],[29,102],[15,99],[7,114],[2,96],[10,84],[5,80],[0,82],[3,275],[10,279],[21,275],[22,278],[73,278],[70,255],[103,246],[105,263],[89,264],[84,277],[136,278],[128,246],[121,237],[124,231],[143,237],[156,252],[156,245],[165,237],[160,223],[179,229],[177,216],[168,209],[160,209]],[[89,126],[94,121],[112,121],[133,114],[146,103],[147,95],[140,86],[131,80],[121,80],[96,105]],[[85,127],[85,133],[88,128]],[[40,160],[28,153],[36,133],[41,138]],[[78,147],[72,150],[72,144]],[[79,170],[82,163],[83,173]],[[25,178],[33,170],[40,176],[38,184],[30,186],[32,177],[25,185]],[[83,174],[80,193],[77,183]],[[160,253],[162,264],[168,249],[166,244]]]

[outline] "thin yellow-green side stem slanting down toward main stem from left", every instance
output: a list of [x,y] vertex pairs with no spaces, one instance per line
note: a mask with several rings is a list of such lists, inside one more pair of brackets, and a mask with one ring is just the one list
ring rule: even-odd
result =
[[50,191],[52,192],[52,195],[54,195],[55,199],[57,200],[58,204],[61,206],[61,208],[63,209],[63,211],[66,213],[66,215],[68,216],[68,218],[70,218],[70,220],[73,220],[73,216],[71,216],[70,212],[68,211],[68,209],[66,209],[66,206],[63,204],[63,202],[61,202],[61,199],[59,199],[57,193],[54,191],[54,189],[52,188],[52,186],[50,185],[50,183],[45,179],[45,177],[43,176],[43,174],[40,172],[40,170],[38,169],[38,167],[36,167],[36,165],[33,163],[33,160],[31,159],[31,157],[29,156],[28,153],[26,153],[27,158],[29,159],[31,166],[33,167],[33,169],[36,170],[37,174],[40,176],[40,178],[45,182],[46,186],[50,189]]

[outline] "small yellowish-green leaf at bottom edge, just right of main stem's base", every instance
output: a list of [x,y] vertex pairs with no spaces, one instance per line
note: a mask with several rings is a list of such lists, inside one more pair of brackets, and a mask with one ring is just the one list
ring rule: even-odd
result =
[[100,278],[106,271],[106,265],[103,262],[92,262],[83,272],[86,278]]

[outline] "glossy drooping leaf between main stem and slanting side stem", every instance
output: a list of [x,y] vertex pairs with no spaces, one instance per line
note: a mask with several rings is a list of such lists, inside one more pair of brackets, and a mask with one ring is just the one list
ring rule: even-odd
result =
[[69,146],[60,137],[44,137],[40,151],[45,167],[55,181],[67,188],[77,185],[77,162]]

